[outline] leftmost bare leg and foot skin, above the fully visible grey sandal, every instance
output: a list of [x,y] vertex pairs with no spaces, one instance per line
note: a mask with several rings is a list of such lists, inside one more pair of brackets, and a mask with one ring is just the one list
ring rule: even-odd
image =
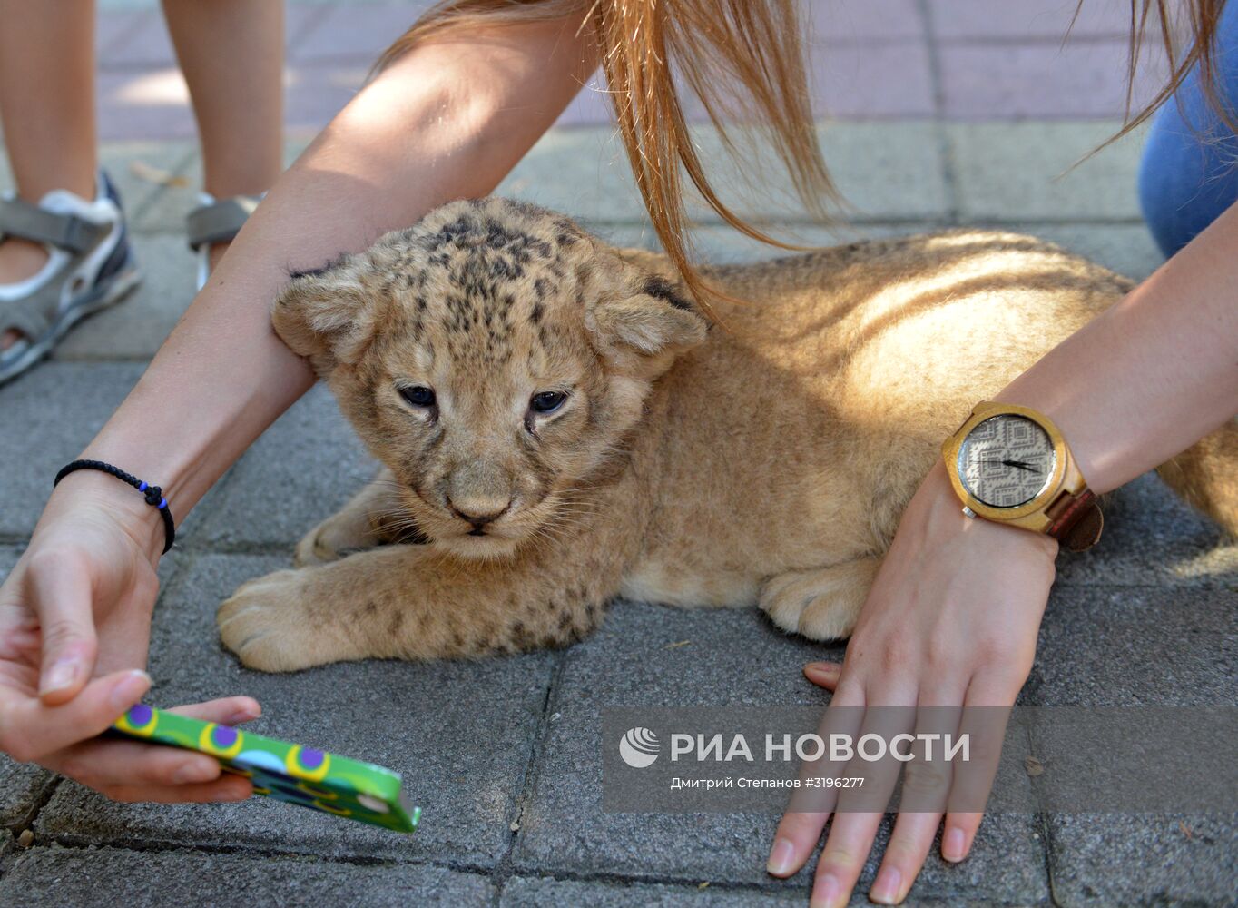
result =
[[[17,194],[94,198],[94,0],[0,0],[0,121]],[[38,243],[0,240],[0,284],[38,273]],[[9,332],[0,349],[20,336]]]

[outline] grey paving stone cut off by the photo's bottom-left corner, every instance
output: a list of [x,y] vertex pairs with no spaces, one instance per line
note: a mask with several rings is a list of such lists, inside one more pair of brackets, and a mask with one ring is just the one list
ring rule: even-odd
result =
[[[116,904],[485,906],[484,878],[442,867],[357,866],[186,851],[36,847],[0,882],[0,902],[28,908]],[[11,901],[10,901],[11,899]]]

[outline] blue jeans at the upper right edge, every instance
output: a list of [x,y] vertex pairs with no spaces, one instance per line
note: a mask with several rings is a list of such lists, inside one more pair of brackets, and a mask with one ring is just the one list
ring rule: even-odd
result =
[[[1238,121],[1238,0],[1226,4],[1216,61],[1217,97]],[[1192,71],[1153,118],[1139,166],[1148,228],[1172,255],[1238,201],[1238,135],[1208,105]]]

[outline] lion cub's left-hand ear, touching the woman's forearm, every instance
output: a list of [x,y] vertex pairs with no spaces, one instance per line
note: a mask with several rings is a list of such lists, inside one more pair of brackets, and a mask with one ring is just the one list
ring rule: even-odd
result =
[[275,333],[319,375],[340,363],[354,365],[374,339],[383,295],[365,286],[363,273],[363,264],[345,258],[295,274],[275,300]]

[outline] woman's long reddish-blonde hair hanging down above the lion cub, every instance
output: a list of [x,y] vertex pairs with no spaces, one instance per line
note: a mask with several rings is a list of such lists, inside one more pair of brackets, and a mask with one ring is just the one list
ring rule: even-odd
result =
[[[1177,22],[1166,0],[1130,0],[1127,121],[1114,139],[1146,120],[1196,64],[1207,99],[1233,128],[1213,78],[1217,25],[1224,2],[1184,0],[1186,21]],[[1080,0],[1076,17],[1082,5]],[[796,0],[442,0],[386,50],[375,69],[447,28],[581,14],[582,27],[592,28],[597,41],[619,135],[654,230],[687,290],[708,312],[709,300],[718,294],[706,285],[688,254],[685,175],[706,203],[735,229],[785,249],[801,247],[769,235],[719,198],[690,135],[685,89],[701,103],[730,152],[737,149],[737,123],[761,126],[810,212],[825,218],[825,203],[837,199],[813,128],[805,33]],[[1135,68],[1149,24],[1158,26],[1164,37],[1171,73],[1151,103],[1133,113]],[[1188,36],[1186,42],[1175,41],[1179,32]]]

